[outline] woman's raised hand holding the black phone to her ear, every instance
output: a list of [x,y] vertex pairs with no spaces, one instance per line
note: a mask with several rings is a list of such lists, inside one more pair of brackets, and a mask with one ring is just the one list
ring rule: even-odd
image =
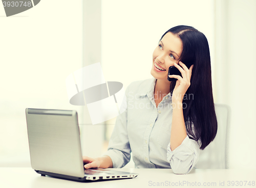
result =
[[187,66],[182,63],[181,61],[179,62],[181,68],[177,63],[174,64],[174,66],[176,68],[179,69],[179,71],[181,72],[181,75],[169,75],[169,77],[173,77],[173,78],[177,78],[178,80],[176,81],[176,85],[173,91],[173,96],[172,96],[172,100],[173,102],[182,102],[183,97],[188,89],[188,87],[190,86],[190,78],[191,78],[191,74],[192,74],[192,69],[194,67],[194,65],[191,65],[190,68],[188,69]]

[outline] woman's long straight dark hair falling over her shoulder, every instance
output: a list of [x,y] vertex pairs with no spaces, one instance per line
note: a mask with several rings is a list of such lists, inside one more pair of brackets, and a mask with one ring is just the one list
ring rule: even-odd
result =
[[[212,96],[208,41],[203,33],[191,26],[175,26],[166,31],[163,36],[168,32],[182,41],[183,50],[180,61],[184,64],[194,64],[190,86],[182,101],[183,115],[188,137],[196,141],[200,140],[200,149],[203,150],[216,137],[218,127]],[[176,81],[171,82],[171,93],[175,85]]]

